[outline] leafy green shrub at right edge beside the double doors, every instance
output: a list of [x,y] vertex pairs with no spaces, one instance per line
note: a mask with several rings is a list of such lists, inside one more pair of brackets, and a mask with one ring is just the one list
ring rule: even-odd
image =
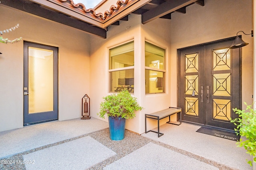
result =
[[[236,125],[236,128],[234,129],[236,134],[246,137],[246,140],[241,138],[240,141],[236,144],[238,147],[243,146],[244,149],[247,150],[246,153],[253,156],[253,160],[247,160],[247,163],[250,164],[250,166],[254,164],[253,169],[256,170],[256,110],[251,108],[252,105],[248,106],[246,102],[244,102],[244,104],[247,106],[246,110],[248,110],[248,112],[245,110],[233,108],[233,111],[236,112],[239,117],[232,119],[231,122]],[[253,104],[255,104],[255,102]]]

